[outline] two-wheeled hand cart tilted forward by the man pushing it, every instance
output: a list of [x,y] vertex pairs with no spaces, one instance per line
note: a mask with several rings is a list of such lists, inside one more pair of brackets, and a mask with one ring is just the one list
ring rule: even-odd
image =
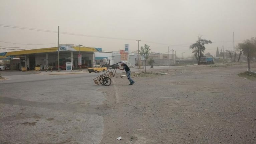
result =
[[[118,62],[120,63],[120,62]],[[102,75],[97,76],[93,79],[94,83],[99,85],[109,86],[111,84],[111,78],[115,76],[116,69],[118,67],[118,63],[110,65],[107,67],[107,72]]]

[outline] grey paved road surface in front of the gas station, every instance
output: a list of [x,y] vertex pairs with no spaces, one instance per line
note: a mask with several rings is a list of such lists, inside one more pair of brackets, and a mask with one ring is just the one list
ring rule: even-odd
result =
[[43,75],[3,71],[0,143],[98,144],[105,101],[92,79],[98,73]]

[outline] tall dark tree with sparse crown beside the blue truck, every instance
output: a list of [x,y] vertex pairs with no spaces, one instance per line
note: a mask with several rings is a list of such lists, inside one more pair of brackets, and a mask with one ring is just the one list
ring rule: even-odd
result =
[[198,65],[200,64],[201,57],[204,56],[205,51],[205,44],[212,43],[210,40],[201,39],[201,36],[198,36],[198,40],[196,43],[192,44],[190,46],[190,49],[192,49],[194,56],[198,60]]

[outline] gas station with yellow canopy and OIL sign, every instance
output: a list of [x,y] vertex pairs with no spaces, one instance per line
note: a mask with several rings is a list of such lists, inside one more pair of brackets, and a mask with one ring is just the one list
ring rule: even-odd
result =
[[[58,47],[20,50],[0,53],[0,59],[9,59],[10,65],[19,63],[20,70],[60,70],[79,69],[95,65],[94,52],[101,52],[101,48],[74,46],[73,44],[60,44]],[[58,60],[59,53],[59,60]],[[17,61],[17,59],[19,59]],[[80,60],[80,61],[79,61]],[[68,64],[68,65],[66,65]],[[72,70],[71,69],[71,70]]]

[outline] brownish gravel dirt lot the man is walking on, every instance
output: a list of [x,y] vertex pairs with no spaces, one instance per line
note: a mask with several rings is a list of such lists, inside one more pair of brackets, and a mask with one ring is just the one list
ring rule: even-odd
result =
[[[133,86],[126,78],[113,78],[114,84],[100,90],[107,97],[97,108],[104,118],[100,144],[255,144],[256,80],[237,75],[247,67],[149,69],[169,74],[133,72]],[[256,70],[255,63],[251,67]]]

